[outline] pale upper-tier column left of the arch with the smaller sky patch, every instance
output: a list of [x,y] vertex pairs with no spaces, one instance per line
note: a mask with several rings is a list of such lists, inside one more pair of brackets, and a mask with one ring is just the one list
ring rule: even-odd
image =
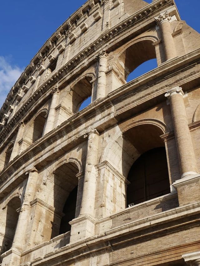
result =
[[58,99],[59,99],[59,94],[60,94],[58,87],[55,87],[51,91],[51,94],[52,94],[51,106],[49,108],[49,113],[48,113],[47,122],[44,128],[43,135],[46,135],[48,132],[52,131],[54,127],[54,120],[56,116],[55,108],[58,105]]

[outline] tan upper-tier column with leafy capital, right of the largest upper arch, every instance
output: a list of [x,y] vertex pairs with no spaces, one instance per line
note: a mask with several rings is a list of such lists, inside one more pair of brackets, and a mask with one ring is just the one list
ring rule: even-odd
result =
[[166,11],[163,14],[160,14],[159,17],[155,17],[158,27],[160,27],[160,30],[161,30],[166,61],[176,57],[176,49],[174,46],[174,41],[173,41],[171,27],[170,27],[171,19],[172,18],[171,16],[169,16],[168,11]]

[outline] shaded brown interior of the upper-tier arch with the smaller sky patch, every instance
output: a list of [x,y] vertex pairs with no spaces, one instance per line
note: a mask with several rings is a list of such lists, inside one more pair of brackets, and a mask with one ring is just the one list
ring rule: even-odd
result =
[[77,113],[80,109],[81,104],[92,95],[93,86],[91,84],[91,81],[92,77],[86,76],[82,80],[78,81],[73,87],[73,113]]

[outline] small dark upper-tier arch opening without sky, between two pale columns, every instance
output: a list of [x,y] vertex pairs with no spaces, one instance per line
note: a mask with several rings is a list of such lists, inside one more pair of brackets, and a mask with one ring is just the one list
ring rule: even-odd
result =
[[32,143],[39,140],[42,137],[45,121],[46,121],[47,112],[42,111],[36,116],[33,122],[33,135],[32,135]]

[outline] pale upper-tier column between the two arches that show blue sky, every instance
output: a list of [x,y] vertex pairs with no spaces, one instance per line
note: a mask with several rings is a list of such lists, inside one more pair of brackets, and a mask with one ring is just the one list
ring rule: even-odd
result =
[[98,86],[96,99],[105,97],[106,95],[106,70],[107,70],[107,56],[106,51],[99,54],[99,69],[98,69]]

